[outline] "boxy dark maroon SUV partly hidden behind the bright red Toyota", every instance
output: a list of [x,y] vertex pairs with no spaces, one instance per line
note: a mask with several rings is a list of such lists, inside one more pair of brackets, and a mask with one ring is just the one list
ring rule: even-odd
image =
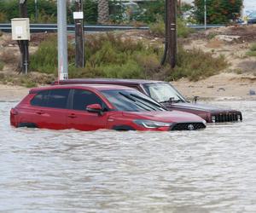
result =
[[143,94],[153,98],[155,101],[158,101],[168,110],[190,112],[205,119],[208,123],[236,122],[242,120],[240,111],[190,103],[172,86],[171,83],[167,82],[139,79],[79,78],[63,80],[53,84],[59,83],[104,83],[123,85],[139,90]]

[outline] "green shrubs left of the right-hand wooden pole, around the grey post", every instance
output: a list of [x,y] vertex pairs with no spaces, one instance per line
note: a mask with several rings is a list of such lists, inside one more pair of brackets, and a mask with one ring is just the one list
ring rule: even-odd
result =
[[[74,47],[69,44],[70,78],[146,78],[159,69],[159,48],[148,47],[113,33],[86,39],[84,69],[74,66]],[[31,56],[32,71],[57,74],[56,37],[49,37]]]

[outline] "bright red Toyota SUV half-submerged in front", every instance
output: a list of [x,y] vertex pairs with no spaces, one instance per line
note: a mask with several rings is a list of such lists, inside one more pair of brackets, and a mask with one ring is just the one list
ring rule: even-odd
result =
[[136,89],[116,85],[70,84],[31,89],[11,109],[15,127],[53,130],[199,130],[206,121],[166,111]]

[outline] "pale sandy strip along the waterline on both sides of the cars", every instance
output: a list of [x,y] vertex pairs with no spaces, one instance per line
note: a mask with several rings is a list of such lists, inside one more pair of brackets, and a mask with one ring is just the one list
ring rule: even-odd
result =
[[[243,76],[234,73],[221,73],[198,82],[181,79],[172,82],[177,90],[191,99],[199,96],[201,100],[255,100],[256,95],[249,95],[249,91],[256,91],[256,77]],[[29,89],[19,86],[0,84],[0,101],[21,100],[28,94]]]

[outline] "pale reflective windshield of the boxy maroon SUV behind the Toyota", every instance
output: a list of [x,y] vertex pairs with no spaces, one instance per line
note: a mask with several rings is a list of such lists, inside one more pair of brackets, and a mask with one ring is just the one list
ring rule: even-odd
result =
[[143,87],[154,101],[160,103],[186,102],[183,96],[170,83],[147,83]]

